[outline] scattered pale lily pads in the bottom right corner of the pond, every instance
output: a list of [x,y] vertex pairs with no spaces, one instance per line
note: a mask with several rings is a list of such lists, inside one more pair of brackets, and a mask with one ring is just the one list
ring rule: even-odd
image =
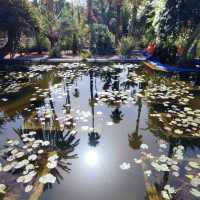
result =
[[[168,149],[164,141],[158,146],[160,152]],[[176,199],[177,195],[186,192],[188,199],[200,197],[200,155],[196,157],[184,156],[184,146],[173,147],[171,155],[159,156],[148,152],[148,145],[140,146],[140,158],[134,158],[134,163],[140,165],[144,170],[147,186],[150,182],[156,186],[158,196],[161,199]],[[122,163],[122,170],[130,170],[135,164]],[[168,177],[168,178],[167,178]],[[159,186],[159,187],[157,187]],[[148,191],[148,188],[147,188]]]

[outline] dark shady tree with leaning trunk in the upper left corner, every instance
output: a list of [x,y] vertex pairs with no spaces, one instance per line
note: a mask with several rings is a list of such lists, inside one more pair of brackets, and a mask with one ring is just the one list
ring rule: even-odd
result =
[[0,30],[7,32],[8,42],[0,49],[0,59],[14,52],[22,33],[38,31],[41,27],[38,10],[26,0],[0,2]]

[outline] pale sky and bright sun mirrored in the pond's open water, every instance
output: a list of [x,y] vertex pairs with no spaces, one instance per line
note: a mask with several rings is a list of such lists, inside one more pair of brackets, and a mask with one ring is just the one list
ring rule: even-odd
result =
[[[48,76],[48,83],[51,81]],[[124,76],[126,79],[126,76]],[[101,91],[103,82],[97,78],[97,91]],[[41,84],[43,85],[43,84]],[[47,84],[46,84],[47,85]],[[64,116],[62,113],[63,105],[66,104],[66,96],[59,98],[64,91],[64,82],[61,87],[52,88],[51,96],[53,98],[54,108],[57,117]],[[70,87],[71,114],[75,115],[77,109],[90,111],[90,79],[89,76],[82,76],[81,81],[77,82],[80,91],[80,97],[75,98],[72,94],[75,86]],[[95,89],[95,87],[94,87]],[[60,91],[60,92],[56,92]],[[48,98],[45,100],[49,103]],[[23,103],[21,101],[21,103]],[[28,101],[29,103],[29,101]],[[143,103],[143,102],[142,102]],[[23,103],[24,104],[24,103]],[[25,105],[25,104],[24,104]],[[106,104],[99,104],[94,108],[95,112],[95,130],[101,135],[97,147],[88,145],[88,132],[81,130],[81,126],[92,126],[91,117],[87,122],[78,121],[77,138],[80,138],[80,144],[73,153],[78,154],[78,158],[70,160],[72,165],[71,173],[64,173],[59,170],[63,180],[60,184],[53,185],[52,190],[48,190],[42,200],[140,200],[144,199],[144,180],[140,167],[133,162],[134,158],[139,158],[139,151],[129,147],[128,134],[135,131],[138,115],[138,105],[122,105],[120,110],[124,114],[123,120],[119,124],[107,126],[106,122],[111,121],[111,111],[113,107]],[[103,115],[97,115],[101,111]],[[62,121],[62,120],[61,120]],[[157,152],[157,138],[149,131],[142,128],[147,127],[148,107],[145,103],[142,106],[142,113],[139,124],[139,134],[143,135],[143,142],[149,145],[150,152]],[[22,123],[21,119],[5,124],[5,134],[3,139],[12,136],[12,127],[18,128]],[[9,135],[8,135],[9,134]],[[1,137],[2,139],[2,137]],[[131,169],[122,171],[120,164],[123,162],[131,163]]]

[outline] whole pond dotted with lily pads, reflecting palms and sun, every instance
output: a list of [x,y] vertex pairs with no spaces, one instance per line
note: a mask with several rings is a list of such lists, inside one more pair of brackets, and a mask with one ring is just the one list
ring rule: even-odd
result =
[[4,199],[199,199],[200,87],[138,64],[0,71]]

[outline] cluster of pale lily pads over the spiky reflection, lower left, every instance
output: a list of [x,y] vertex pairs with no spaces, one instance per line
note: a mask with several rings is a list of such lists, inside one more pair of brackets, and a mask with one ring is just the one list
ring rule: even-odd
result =
[[[22,134],[24,145],[18,140],[8,140],[6,148],[2,150],[4,161],[0,165],[0,171],[18,174],[16,182],[24,185],[25,192],[30,192],[36,181],[43,184],[56,181],[50,170],[57,167],[59,155],[56,152],[50,153],[49,141],[37,140],[35,135],[34,131]],[[7,186],[1,186],[3,193],[6,188]]]

